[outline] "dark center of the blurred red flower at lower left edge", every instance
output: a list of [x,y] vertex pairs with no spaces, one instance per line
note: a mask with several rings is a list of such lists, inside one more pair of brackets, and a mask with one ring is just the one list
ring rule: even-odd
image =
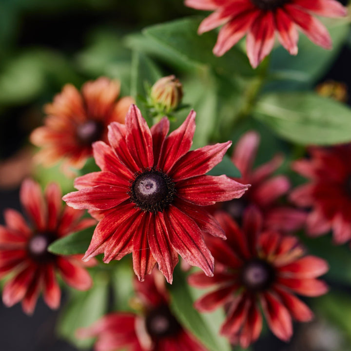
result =
[[47,248],[54,240],[52,234],[38,233],[33,235],[27,246],[29,256],[38,262],[52,261],[55,255],[48,252]]

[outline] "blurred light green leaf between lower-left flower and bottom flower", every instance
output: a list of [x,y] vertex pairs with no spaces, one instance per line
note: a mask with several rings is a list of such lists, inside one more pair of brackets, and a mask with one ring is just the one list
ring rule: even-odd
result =
[[94,286],[86,292],[72,291],[71,298],[59,317],[57,331],[59,336],[69,340],[76,347],[90,348],[94,340],[78,340],[75,336],[78,328],[90,326],[107,312],[108,274],[92,274]]

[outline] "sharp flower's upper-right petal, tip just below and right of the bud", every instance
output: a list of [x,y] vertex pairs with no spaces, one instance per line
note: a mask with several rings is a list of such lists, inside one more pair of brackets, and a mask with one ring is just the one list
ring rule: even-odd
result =
[[184,156],[193,144],[195,132],[195,111],[192,110],[179,128],[163,142],[157,167],[168,173],[176,161]]

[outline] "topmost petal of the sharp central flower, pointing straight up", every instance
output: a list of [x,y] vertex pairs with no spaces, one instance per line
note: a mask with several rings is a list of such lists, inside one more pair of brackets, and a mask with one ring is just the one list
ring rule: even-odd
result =
[[136,105],[131,105],[125,118],[126,142],[139,168],[154,165],[153,140],[150,129]]

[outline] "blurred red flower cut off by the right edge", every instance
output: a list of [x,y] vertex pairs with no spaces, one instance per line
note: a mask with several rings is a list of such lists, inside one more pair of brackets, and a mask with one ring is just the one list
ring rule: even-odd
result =
[[351,239],[351,144],[331,148],[310,148],[310,159],[298,160],[293,169],[311,179],[297,187],[291,199],[312,207],[307,232],[317,236],[333,230],[336,244]]

